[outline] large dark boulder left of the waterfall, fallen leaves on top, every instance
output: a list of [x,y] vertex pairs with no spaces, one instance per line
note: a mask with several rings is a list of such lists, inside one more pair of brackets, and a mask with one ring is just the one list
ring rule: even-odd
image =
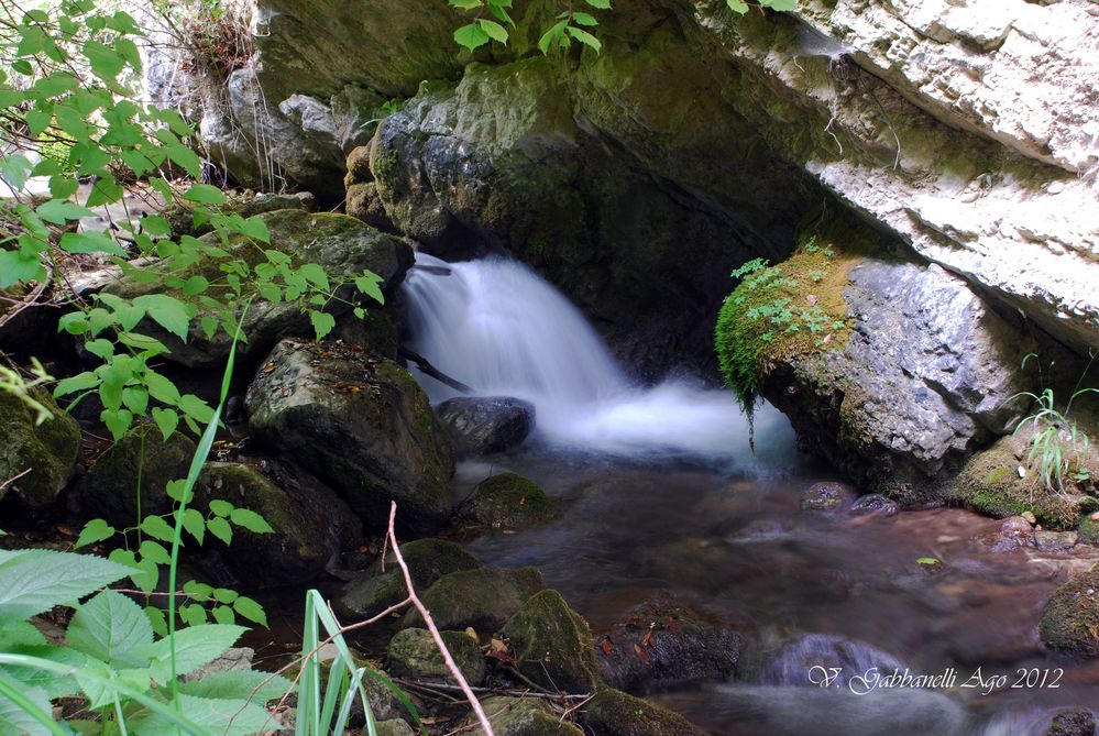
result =
[[385,529],[391,501],[405,531],[428,534],[449,518],[450,440],[396,363],[340,343],[286,339],[245,404],[253,439],[316,474],[367,529]]

